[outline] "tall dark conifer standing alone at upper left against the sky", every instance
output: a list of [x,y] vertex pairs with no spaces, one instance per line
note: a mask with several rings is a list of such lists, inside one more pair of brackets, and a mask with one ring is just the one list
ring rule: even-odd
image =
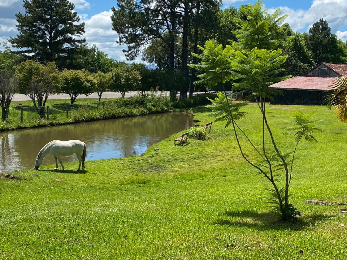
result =
[[10,38],[13,47],[27,58],[59,61],[85,42],[84,23],[68,0],[24,0],[25,14],[17,14],[19,34]]

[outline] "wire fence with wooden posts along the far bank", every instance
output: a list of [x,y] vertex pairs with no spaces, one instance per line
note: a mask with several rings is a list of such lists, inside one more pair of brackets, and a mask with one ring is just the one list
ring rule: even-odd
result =
[[1,109],[1,121],[6,123],[28,123],[37,120],[58,121],[74,118],[79,110],[97,112],[105,108],[105,103],[86,104],[54,104],[52,106],[28,107],[20,106]]

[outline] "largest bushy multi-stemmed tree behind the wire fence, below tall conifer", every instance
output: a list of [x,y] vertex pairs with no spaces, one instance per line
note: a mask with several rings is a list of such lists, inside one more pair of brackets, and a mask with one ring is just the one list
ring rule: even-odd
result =
[[[15,67],[19,92],[33,101],[37,112],[44,117],[47,98],[59,92],[59,70],[54,62],[43,66],[37,61],[27,60]],[[37,102],[37,103],[36,103]]]

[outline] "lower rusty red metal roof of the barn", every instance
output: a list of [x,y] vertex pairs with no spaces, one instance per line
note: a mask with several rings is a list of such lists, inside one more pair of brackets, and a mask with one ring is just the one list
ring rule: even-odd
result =
[[320,77],[305,77],[299,76],[283,80],[279,83],[273,84],[270,87],[278,89],[301,89],[301,90],[316,90],[325,91],[330,89],[331,84],[338,77],[320,78]]

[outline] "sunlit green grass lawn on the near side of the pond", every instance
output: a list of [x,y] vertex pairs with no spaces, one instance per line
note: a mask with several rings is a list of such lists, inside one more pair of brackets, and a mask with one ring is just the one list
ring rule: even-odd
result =
[[[22,181],[1,179],[0,259],[345,258],[344,206],[304,201],[347,203],[347,125],[325,107],[269,105],[282,151],[294,146],[280,129],[292,109],[318,111],[324,130],[318,144],[297,150],[290,202],[303,216],[296,223],[279,222],[265,203],[268,181],[240,156],[231,127],[213,123],[206,141],[174,146],[178,133],[142,156],[87,161],[86,172],[71,163],[66,172],[50,166],[15,173]],[[245,110],[240,125],[260,145],[260,113],[254,104]],[[195,119],[212,121],[206,113]]]

